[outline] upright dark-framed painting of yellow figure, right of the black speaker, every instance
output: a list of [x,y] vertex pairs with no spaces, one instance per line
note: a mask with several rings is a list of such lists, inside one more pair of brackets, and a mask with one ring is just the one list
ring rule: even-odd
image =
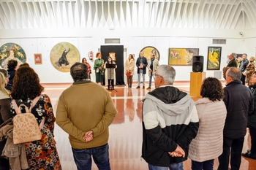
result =
[[219,70],[222,47],[208,47],[207,70]]

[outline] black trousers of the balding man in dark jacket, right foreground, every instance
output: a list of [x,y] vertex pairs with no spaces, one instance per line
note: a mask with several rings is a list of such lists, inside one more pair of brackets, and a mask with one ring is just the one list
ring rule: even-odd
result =
[[[227,170],[230,160],[232,170],[239,170],[241,153],[244,145],[244,137],[238,139],[223,138],[223,152],[219,156],[218,170]],[[230,155],[231,148],[231,155]]]

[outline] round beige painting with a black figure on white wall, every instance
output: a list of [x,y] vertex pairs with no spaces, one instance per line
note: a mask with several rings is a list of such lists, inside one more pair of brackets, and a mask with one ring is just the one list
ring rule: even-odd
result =
[[60,72],[70,72],[70,67],[79,61],[78,49],[69,42],[60,42],[50,51],[50,62]]

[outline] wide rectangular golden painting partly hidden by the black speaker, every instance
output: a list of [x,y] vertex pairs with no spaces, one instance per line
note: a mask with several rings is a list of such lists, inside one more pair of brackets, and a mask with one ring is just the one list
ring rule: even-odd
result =
[[192,66],[194,55],[199,48],[169,48],[168,64],[171,66]]

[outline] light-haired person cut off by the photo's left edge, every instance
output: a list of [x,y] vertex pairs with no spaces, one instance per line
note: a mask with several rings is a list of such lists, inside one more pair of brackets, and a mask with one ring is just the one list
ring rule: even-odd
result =
[[[4,123],[6,120],[12,118],[12,113],[10,112],[10,91],[7,90],[5,87],[7,85],[6,79],[4,74],[0,72],[0,125]],[[6,139],[0,142],[0,153],[4,149],[4,145],[6,143]],[[1,170],[9,170],[9,161],[2,157],[0,154],[0,169]]]

